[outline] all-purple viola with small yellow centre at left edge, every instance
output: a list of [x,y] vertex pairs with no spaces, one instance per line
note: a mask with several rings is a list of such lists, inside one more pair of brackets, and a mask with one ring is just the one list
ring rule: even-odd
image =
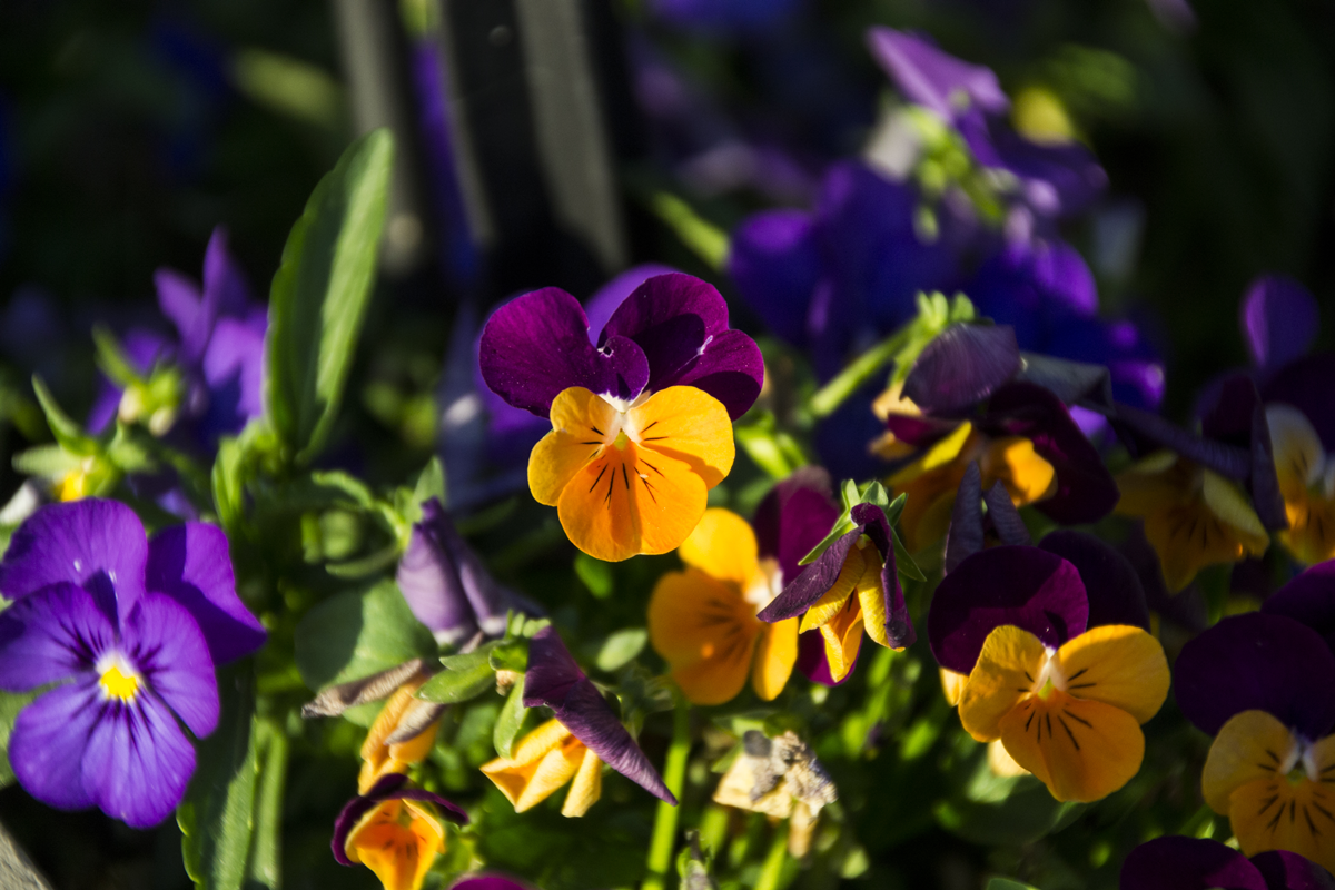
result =
[[97,806],[134,827],[162,822],[218,723],[214,664],[264,630],[236,596],[227,538],[187,523],[144,535],[113,500],[35,512],[0,562],[0,689],[53,685],[15,721],[19,783],[63,810]]

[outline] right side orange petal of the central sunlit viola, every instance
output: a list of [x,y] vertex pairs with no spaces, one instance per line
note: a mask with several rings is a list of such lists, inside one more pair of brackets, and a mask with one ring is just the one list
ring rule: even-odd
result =
[[642,447],[685,463],[709,488],[733,468],[733,422],[724,404],[704,390],[668,387],[627,411],[626,418],[627,434]]

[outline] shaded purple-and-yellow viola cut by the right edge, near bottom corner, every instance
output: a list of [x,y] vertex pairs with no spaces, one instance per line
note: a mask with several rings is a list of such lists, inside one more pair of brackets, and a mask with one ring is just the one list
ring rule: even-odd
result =
[[1335,655],[1320,634],[1280,614],[1224,618],[1183,647],[1176,690],[1215,737],[1202,793],[1243,853],[1335,869]]

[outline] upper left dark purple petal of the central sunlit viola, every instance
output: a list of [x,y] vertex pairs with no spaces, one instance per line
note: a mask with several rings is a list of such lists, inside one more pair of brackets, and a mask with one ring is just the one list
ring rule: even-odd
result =
[[482,379],[493,392],[543,418],[551,400],[570,387],[631,400],[649,382],[641,348],[610,338],[595,350],[579,302],[555,287],[498,308],[482,328],[478,354]]

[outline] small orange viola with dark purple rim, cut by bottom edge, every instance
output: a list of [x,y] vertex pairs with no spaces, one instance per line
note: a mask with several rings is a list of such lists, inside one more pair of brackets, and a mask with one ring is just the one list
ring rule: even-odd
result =
[[469,823],[469,815],[441,795],[407,787],[406,775],[386,775],[339,813],[334,858],[339,865],[364,865],[384,890],[417,890],[445,853],[442,818]]

